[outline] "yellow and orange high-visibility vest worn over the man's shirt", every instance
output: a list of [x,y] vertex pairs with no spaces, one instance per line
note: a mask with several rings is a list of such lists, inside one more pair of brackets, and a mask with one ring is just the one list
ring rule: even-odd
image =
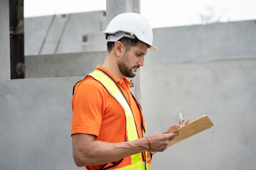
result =
[[[95,71],[89,74],[88,76],[92,77],[97,81],[100,81],[100,83],[103,86],[105,86],[105,89],[107,89],[110,95],[119,103],[120,106],[122,106],[122,109],[124,111],[125,118],[126,118],[127,141],[138,140],[139,135],[137,132],[137,126],[135,125],[132,108],[129,105],[127,98],[125,98],[124,94],[122,93],[122,90],[120,89],[117,82],[115,82],[114,79],[110,77],[110,75],[108,75],[101,69],[95,69]],[[144,136],[144,130],[142,131]],[[120,164],[120,162],[131,162],[131,164],[128,164],[128,165],[126,164],[126,166],[123,166],[122,164]],[[125,157],[124,159],[121,159],[118,163],[105,164],[102,167],[102,169],[120,169],[120,170],[146,169],[148,170],[150,169],[150,165],[151,165],[151,154],[149,152],[145,152],[145,153],[134,154],[130,157]]]

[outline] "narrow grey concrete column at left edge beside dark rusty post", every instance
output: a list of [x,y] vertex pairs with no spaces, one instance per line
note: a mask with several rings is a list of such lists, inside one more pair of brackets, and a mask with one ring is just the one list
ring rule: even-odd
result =
[[11,79],[9,0],[0,1],[0,79]]

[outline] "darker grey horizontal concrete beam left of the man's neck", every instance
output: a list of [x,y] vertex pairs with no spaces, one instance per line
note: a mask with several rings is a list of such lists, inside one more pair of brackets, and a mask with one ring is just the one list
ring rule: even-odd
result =
[[84,77],[105,60],[107,52],[26,56],[26,78]]

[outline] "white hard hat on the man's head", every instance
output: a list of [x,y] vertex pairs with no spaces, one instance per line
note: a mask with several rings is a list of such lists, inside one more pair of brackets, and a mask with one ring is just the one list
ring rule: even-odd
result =
[[158,51],[153,46],[153,31],[144,16],[139,13],[122,13],[114,17],[108,24],[105,31],[108,42],[116,42],[122,37],[138,38],[142,42],[150,45],[149,50]]

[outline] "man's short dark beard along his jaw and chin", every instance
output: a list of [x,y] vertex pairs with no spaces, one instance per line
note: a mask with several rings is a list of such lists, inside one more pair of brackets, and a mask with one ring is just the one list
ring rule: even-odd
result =
[[122,74],[125,77],[135,77],[136,74],[132,72],[132,69],[134,68],[138,68],[139,69],[139,65],[135,65],[134,67],[129,67],[129,65],[131,65],[131,63],[128,60],[128,56],[126,55],[126,53],[121,57],[121,60],[117,63],[120,72],[122,72]]

